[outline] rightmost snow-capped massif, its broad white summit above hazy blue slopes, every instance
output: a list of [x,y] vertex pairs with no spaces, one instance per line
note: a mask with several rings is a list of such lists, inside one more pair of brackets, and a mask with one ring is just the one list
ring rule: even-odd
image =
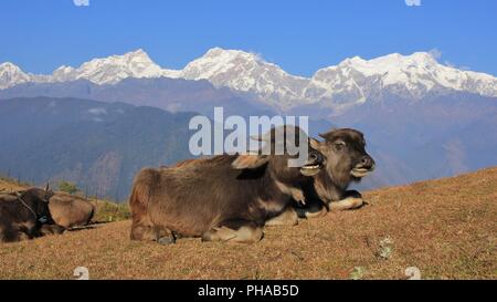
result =
[[497,77],[440,64],[426,52],[369,61],[355,56],[317,71],[303,98],[340,107],[363,103],[384,91],[417,100],[448,90],[497,96]]

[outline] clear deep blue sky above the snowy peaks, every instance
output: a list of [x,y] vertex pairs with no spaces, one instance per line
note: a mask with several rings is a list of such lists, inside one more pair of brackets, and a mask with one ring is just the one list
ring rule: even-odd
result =
[[0,62],[50,73],[142,48],[161,66],[180,69],[222,46],[310,75],[353,55],[436,49],[441,62],[497,75],[494,0],[73,1],[0,1]]

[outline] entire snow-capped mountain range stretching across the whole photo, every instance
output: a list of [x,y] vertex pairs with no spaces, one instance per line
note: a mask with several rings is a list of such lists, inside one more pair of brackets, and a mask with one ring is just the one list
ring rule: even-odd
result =
[[363,60],[347,59],[318,70],[310,79],[286,73],[260,55],[214,48],[182,70],[162,69],[142,50],[94,59],[78,67],[61,66],[51,75],[24,73],[12,63],[0,65],[0,88],[21,83],[67,82],[85,79],[116,84],[127,77],[208,80],[214,86],[252,93],[279,108],[319,104],[342,110],[383,92],[419,100],[432,92],[461,91],[497,96],[497,77],[438,63],[430,53],[399,53]]

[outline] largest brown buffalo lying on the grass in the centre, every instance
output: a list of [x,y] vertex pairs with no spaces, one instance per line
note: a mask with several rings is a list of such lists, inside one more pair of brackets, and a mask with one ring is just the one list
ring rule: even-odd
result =
[[[298,140],[298,139],[297,139]],[[308,142],[308,140],[305,140]],[[307,163],[288,167],[288,154],[219,155],[177,167],[142,169],[129,200],[130,238],[173,243],[176,235],[203,241],[253,243],[265,222],[300,199],[300,184],[322,167],[309,148]]]

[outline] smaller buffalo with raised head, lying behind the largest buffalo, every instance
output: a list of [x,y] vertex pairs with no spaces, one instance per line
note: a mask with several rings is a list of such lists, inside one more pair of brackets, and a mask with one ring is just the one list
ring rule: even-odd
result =
[[351,128],[332,129],[319,135],[325,140],[316,142],[315,148],[326,158],[325,168],[306,187],[305,207],[297,207],[299,216],[316,217],[328,210],[346,210],[363,205],[362,196],[347,190],[374,169],[374,160],[366,152],[362,133]]

